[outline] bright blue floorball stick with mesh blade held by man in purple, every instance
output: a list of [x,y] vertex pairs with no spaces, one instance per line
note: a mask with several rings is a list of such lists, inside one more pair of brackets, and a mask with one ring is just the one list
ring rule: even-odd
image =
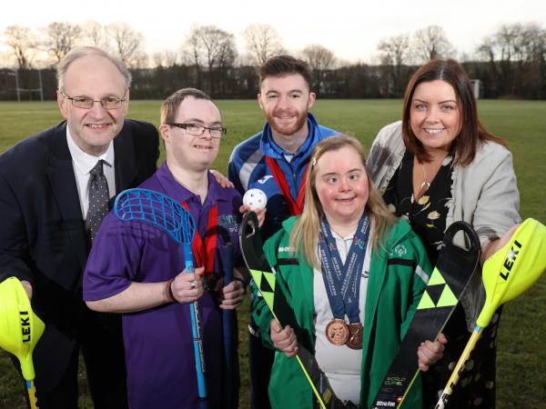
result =
[[[187,273],[194,272],[191,242],[196,232],[196,223],[182,205],[167,195],[152,190],[127,189],[117,196],[114,214],[123,222],[146,222],[170,235],[177,244],[182,244]],[[205,384],[205,359],[197,301],[189,304],[189,313],[196,355],[197,393],[199,404],[205,409],[207,408],[207,386]]]

